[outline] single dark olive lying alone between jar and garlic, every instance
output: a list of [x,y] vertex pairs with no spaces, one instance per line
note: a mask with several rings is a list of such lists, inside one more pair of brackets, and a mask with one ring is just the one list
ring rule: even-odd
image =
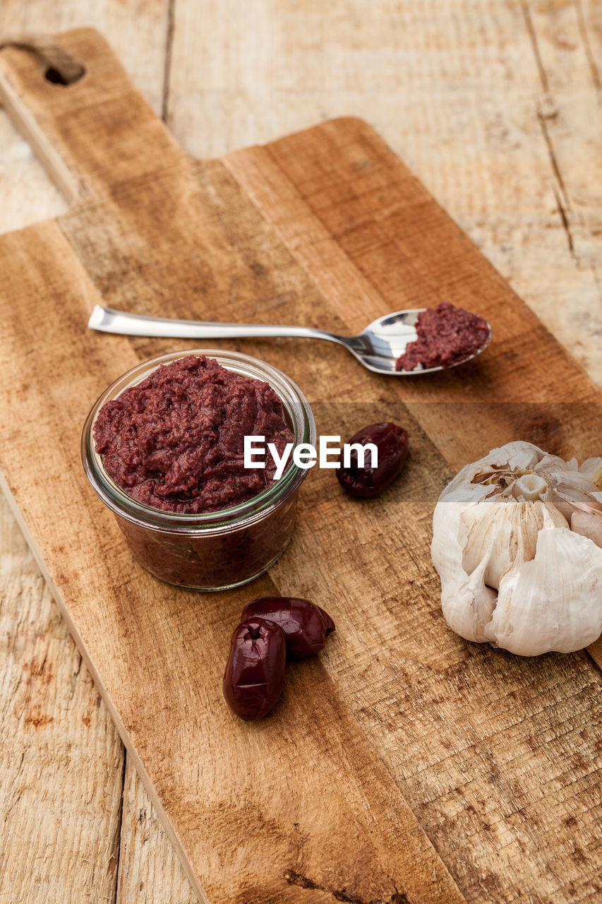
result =
[[350,465],[341,466],[336,471],[339,483],[352,496],[360,499],[372,499],[381,493],[400,473],[408,456],[408,434],[390,420],[382,424],[371,424],[364,427],[349,440],[350,444],[373,443],[378,449],[378,464],[372,467],[371,450],[365,452],[364,466],[358,465],[357,450],[350,453]]

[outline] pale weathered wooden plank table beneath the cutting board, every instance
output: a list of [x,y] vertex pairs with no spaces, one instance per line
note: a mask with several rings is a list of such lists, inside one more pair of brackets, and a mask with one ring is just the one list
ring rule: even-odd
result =
[[[602,385],[602,3],[0,5],[82,24],[193,155],[368,120]],[[66,209],[4,114],[0,198],[0,231]],[[0,904],[196,900],[4,500],[0,544]]]

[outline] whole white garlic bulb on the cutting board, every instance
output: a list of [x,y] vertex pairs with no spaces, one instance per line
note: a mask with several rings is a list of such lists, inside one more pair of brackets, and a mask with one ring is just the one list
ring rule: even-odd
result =
[[431,556],[449,626],[534,656],[602,631],[602,458],[492,449],[439,496]]

